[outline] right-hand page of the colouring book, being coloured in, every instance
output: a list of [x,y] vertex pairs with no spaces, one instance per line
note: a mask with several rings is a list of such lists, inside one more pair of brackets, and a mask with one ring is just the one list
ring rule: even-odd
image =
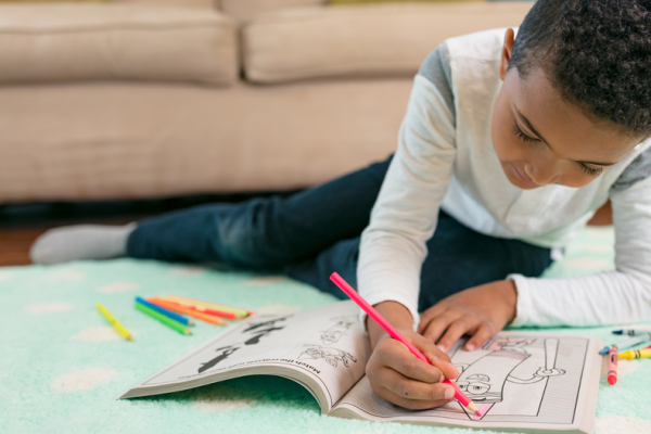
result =
[[[337,405],[370,420],[472,427],[577,430],[585,411],[595,414],[600,343],[596,337],[501,332],[475,352],[457,342],[448,352],[460,372],[456,380],[481,410],[481,417],[459,403],[410,411],[378,396],[363,378]],[[589,405],[588,405],[589,404]]]

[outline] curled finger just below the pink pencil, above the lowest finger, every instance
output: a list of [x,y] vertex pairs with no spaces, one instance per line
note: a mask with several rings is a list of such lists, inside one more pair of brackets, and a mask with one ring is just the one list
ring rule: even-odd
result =
[[403,343],[386,340],[382,342],[382,365],[385,367],[422,383],[434,384],[443,381],[444,374],[441,369],[420,360]]

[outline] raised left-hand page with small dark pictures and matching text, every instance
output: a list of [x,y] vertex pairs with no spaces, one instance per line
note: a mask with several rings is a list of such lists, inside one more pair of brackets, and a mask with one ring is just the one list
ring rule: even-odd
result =
[[[289,315],[254,315],[230,326],[231,330],[154,374],[125,396],[207,384],[212,381],[201,380],[233,370],[248,369],[253,371],[250,374],[288,376],[277,369],[285,368],[315,380],[331,408],[363,375],[371,354],[357,315],[358,307],[352,301]],[[146,393],[148,388],[155,392]],[[132,393],[135,390],[139,390],[138,394]]]

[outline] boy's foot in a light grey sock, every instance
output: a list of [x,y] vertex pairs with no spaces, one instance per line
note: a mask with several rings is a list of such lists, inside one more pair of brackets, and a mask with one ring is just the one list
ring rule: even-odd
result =
[[50,229],[31,244],[29,257],[34,264],[50,265],[123,256],[133,229],[136,224],[79,225]]

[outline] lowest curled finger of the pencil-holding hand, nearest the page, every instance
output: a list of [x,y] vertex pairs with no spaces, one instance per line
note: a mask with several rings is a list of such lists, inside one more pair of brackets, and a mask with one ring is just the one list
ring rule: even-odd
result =
[[429,406],[435,405],[433,403],[445,404],[455,397],[455,388],[448,384],[422,383],[401,375],[392,369],[385,369],[379,380],[384,388],[397,397],[424,401]]

